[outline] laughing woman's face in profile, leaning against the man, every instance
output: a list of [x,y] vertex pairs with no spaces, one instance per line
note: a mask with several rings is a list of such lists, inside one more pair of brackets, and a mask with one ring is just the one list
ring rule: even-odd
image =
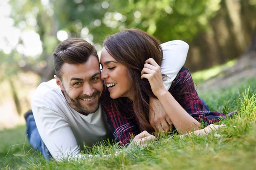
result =
[[102,65],[101,79],[105,80],[112,99],[128,97],[133,100],[130,94],[131,81],[125,65],[117,62],[104,47],[100,56]]

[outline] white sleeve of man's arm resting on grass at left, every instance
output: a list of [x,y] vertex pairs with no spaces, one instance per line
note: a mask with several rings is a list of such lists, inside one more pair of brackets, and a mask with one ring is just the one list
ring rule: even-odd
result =
[[83,159],[79,153],[76,138],[70,128],[68,120],[60,109],[44,97],[32,99],[32,111],[38,132],[56,160]]

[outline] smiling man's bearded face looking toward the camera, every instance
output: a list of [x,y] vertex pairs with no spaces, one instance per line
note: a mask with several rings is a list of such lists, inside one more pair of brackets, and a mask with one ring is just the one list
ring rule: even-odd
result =
[[78,112],[94,113],[99,108],[103,91],[99,60],[91,56],[82,64],[64,63],[61,67],[62,81],[55,76],[68,104]]

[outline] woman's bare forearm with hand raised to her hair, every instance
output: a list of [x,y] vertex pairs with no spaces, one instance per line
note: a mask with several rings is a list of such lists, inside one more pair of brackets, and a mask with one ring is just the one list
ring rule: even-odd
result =
[[148,79],[152,92],[159,99],[178,133],[184,134],[200,129],[201,124],[190,116],[164,87],[160,66],[152,58],[145,62],[141,79]]

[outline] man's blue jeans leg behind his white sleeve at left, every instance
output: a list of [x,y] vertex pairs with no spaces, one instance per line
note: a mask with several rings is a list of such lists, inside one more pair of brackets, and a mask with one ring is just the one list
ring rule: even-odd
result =
[[32,111],[31,111],[31,114],[29,114],[26,117],[26,125],[27,125],[26,135],[28,136],[29,144],[31,144],[31,146],[35,150],[39,150],[44,156],[44,159],[49,161],[49,159],[51,158],[51,156],[49,155],[49,150],[45,146],[38,132],[38,128],[36,127],[35,118],[34,118],[34,115],[32,114]]

